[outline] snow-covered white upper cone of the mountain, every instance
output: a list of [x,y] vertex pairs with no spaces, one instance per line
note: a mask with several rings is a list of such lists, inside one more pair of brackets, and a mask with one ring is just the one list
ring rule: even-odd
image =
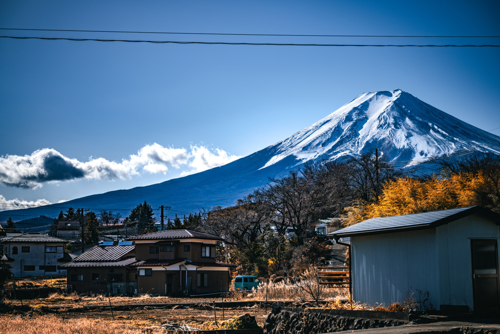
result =
[[496,136],[450,116],[399,89],[364,93],[311,126],[272,145],[262,168],[294,156],[301,164],[334,160],[377,148],[390,161],[421,161],[462,150],[500,153]]

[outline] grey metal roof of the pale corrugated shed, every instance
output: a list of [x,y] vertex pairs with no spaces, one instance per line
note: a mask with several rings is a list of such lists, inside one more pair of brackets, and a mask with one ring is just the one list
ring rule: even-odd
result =
[[500,224],[500,215],[497,213],[480,206],[469,206],[465,208],[421,212],[400,216],[371,218],[342,228],[331,234],[335,240],[338,240],[338,238],[346,236],[435,228],[474,213],[486,215],[493,219],[496,224]]

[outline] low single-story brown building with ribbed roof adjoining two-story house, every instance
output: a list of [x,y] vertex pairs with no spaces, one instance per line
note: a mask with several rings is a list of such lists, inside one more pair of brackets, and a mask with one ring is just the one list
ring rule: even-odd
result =
[[81,293],[133,294],[137,289],[134,245],[94,246],[62,267],[67,286]]

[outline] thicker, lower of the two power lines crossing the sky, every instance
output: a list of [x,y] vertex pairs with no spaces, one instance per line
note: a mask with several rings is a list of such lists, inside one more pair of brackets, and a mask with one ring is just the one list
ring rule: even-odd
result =
[[297,46],[297,47],[416,47],[416,48],[498,48],[500,45],[483,44],[483,45],[436,45],[436,44],[297,44],[297,43],[242,43],[242,42],[185,42],[185,41],[146,41],[146,40],[101,40],[101,39],[86,39],[86,38],[53,38],[53,37],[15,37],[15,36],[0,36],[0,38],[10,38],[18,40],[49,40],[49,41],[94,41],[94,42],[127,42],[127,43],[153,43],[153,44],[204,44],[204,45],[252,45],[252,46]]

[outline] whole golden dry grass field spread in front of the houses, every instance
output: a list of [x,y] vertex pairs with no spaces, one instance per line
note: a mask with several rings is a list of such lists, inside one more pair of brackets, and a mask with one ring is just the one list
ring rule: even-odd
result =
[[[23,286],[43,285],[39,281],[24,280]],[[59,279],[52,284],[60,284]],[[48,284],[47,284],[48,285]],[[346,289],[324,289],[323,300],[346,298]],[[6,300],[6,308],[0,308],[0,333],[149,333],[163,330],[161,324],[187,324],[196,328],[215,329],[217,321],[250,313],[262,326],[269,307],[262,305],[230,307],[212,306],[213,300],[264,301],[295,300],[302,304],[310,296],[289,282],[269,284],[267,289],[225,293],[213,297],[168,297],[141,295],[136,297],[105,295],[78,295],[52,293],[47,298],[31,300]],[[111,307],[109,307],[111,303]],[[192,303],[189,305],[153,305],[168,303]],[[22,304],[22,307],[21,307]],[[126,305],[140,305],[128,307]],[[58,309],[49,307],[57,306]],[[102,306],[102,307],[85,307]],[[111,311],[112,310],[112,311]]]

